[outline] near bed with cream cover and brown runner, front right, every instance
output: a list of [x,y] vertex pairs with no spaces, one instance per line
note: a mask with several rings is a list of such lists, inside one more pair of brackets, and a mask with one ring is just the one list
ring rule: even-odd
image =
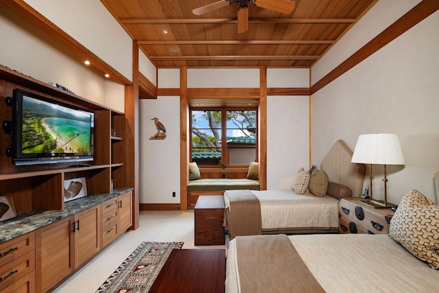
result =
[[[286,237],[299,261],[276,253],[259,237]],[[241,255],[240,238],[248,239],[250,251],[263,255],[237,266]],[[236,241],[238,240],[238,247]],[[283,240],[285,241],[285,240]],[[259,243],[259,245],[258,245]],[[274,251],[274,253],[272,252]],[[270,259],[268,261],[268,259]],[[290,270],[279,271],[278,261],[289,261]],[[250,263],[249,263],[250,262]],[[288,263],[287,263],[288,265]],[[245,267],[252,267],[253,278]],[[261,268],[261,270],[259,270]],[[299,270],[299,272],[296,272]],[[262,273],[263,272],[263,273]],[[309,272],[317,285],[305,272]],[[296,277],[297,276],[297,277]],[[291,281],[286,283],[285,280]],[[229,242],[226,260],[226,292],[437,292],[439,271],[410,254],[389,235],[258,235],[237,237]],[[250,283],[250,285],[249,285]],[[293,285],[293,287],[289,287]]]

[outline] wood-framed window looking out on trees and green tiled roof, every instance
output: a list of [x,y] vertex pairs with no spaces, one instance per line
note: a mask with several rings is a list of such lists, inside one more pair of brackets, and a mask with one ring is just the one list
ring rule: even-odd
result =
[[257,109],[191,109],[191,154],[198,165],[249,165],[257,159]]

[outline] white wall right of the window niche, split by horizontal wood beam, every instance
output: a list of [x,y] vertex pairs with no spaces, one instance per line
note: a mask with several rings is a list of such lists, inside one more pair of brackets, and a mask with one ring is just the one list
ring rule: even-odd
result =
[[[309,69],[267,69],[268,88],[309,87]],[[309,97],[267,97],[267,189],[290,189],[309,167]]]

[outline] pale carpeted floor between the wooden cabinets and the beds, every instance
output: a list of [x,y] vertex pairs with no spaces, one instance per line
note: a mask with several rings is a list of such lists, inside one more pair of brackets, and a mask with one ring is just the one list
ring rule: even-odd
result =
[[54,292],[96,292],[141,242],[185,242],[182,248],[226,248],[224,245],[195,246],[193,231],[193,210],[141,211],[137,230],[117,239]]

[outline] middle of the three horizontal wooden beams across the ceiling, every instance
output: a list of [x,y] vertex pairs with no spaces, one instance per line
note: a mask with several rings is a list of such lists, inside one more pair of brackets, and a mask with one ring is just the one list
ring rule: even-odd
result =
[[138,40],[139,45],[332,45],[335,40]]

